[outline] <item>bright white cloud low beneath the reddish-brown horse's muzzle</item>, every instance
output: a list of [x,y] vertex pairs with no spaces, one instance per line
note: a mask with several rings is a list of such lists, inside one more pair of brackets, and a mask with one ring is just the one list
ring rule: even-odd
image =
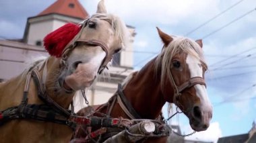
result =
[[[186,133],[193,132],[191,129],[187,130]],[[187,140],[201,140],[205,142],[217,142],[218,138],[222,137],[222,130],[218,122],[213,122],[210,127],[202,132],[196,132],[192,136],[186,137]]]

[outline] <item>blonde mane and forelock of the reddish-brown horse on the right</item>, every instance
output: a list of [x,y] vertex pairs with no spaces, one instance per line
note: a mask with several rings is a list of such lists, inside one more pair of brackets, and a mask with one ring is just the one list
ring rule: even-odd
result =
[[162,49],[162,52],[158,54],[155,62],[156,73],[159,70],[161,71],[161,86],[166,82],[164,79],[165,77],[168,78],[168,81],[171,81],[170,67],[172,66],[172,58],[175,54],[179,54],[181,52],[191,54],[200,60],[203,66],[207,68],[207,64],[205,63],[205,58],[203,56],[203,50],[197,42],[185,37],[172,36],[172,38],[174,38],[172,42]]

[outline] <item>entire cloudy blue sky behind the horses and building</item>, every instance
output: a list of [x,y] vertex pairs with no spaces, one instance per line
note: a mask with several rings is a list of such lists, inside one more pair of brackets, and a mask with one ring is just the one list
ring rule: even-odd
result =
[[[0,38],[22,38],[27,17],[55,0],[0,1]],[[214,105],[210,128],[189,137],[216,141],[220,136],[245,134],[256,119],[256,1],[255,0],[105,0],[108,12],[119,15],[137,35],[134,63],[141,68],[160,52],[162,31],[194,40],[203,39],[210,68],[207,91]],[[80,0],[88,13],[98,1]],[[182,132],[191,128],[180,115],[174,122]]]

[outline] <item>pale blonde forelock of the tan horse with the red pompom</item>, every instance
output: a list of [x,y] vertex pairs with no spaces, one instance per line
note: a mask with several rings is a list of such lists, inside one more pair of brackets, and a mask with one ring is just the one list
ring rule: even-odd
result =
[[125,23],[116,15],[110,13],[96,13],[90,18],[98,18],[108,21],[113,30],[115,31],[115,40],[121,40],[123,47],[126,47],[129,44],[129,31],[125,26]]

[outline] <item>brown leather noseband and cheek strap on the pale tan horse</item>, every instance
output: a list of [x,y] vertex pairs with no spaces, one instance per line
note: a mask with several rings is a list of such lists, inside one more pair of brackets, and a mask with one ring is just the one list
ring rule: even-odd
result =
[[108,62],[112,59],[113,53],[110,52],[109,47],[104,42],[102,42],[100,40],[94,40],[94,39],[87,40],[87,39],[81,38],[82,32],[83,32],[84,28],[87,26],[89,21],[90,21],[90,18],[86,19],[84,21],[84,23],[82,23],[82,28],[78,33],[79,35],[73,40],[73,42],[70,45],[67,45],[64,48],[64,50],[62,52],[62,57],[61,57],[61,64],[64,64],[65,66],[67,66],[67,64],[65,63],[67,60],[67,56],[69,56],[69,53],[71,52],[71,50],[73,50],[77,46],[78,43],[83,43],[88,46],[100,46],[102,48],[102,50],[104,50],[104,52],[106,52],[106,56],[104,57],[104,60],[102,60],[100,68],[98,69],[98,74],[101,74],[102,71],[104,70],[104,68],[106,68],[106,64],[108,64]]

